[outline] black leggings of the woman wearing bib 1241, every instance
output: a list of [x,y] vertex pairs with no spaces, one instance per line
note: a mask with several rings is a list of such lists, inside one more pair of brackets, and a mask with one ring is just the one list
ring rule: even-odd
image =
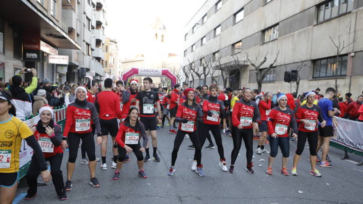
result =
[[253,130],[252,128],[248,129],[238,129],[237,127],[232,126],[232,139],[233,139],[233,150],[231,153],[231,164],[234,165],[236,162],[238,152],[240,152],[242,139],[245,143],[246,147],[246,159],[247,164],[251,164],[252,155],[253,155]]

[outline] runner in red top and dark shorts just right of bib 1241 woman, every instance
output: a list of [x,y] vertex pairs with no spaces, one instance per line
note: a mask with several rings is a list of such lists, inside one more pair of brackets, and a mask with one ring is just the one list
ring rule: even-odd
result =
[[265,144],[267,139],[267,123],[266,119],[271,111],[271,99],[272,99],[272,93],[266,92],[264,96],[264,100],[261,100],[260,103],[258,103],[258,109],[260,110],[261,114],[261,125],[260,125],[260,132],[261,136],[260,139],[258,139],[258,145],[256,149],[256,154],[269,154],[270,152],[265,150]]

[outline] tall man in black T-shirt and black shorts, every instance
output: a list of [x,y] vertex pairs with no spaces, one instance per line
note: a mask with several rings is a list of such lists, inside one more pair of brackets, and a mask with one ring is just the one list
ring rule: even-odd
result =
[[[144,124],[145,131],[150,131],[152,148],[154,150],[153,155],[156,162],[160,162],[158,154],[156,154],[156,149],[158,146],[158,138],[156,137],[156,125],[161,123],[162,112],[160,110],[160,99],[158,92],[151,90],[152,79],[150,77],[145,77],[143,80],[144,91],[140,91],[136,95],[136,108],[139,109],[140,121]],[[156,103],[156,108],[159,113],[158,122],[155,118],[154,104]],[[146,146],[146,156],[144,162],[150,160],[149,153],[149,142]]]

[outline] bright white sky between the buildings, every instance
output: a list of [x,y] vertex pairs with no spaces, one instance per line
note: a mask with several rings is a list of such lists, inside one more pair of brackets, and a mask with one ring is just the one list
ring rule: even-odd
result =
[[118,42],[119,57],[130,58],[143,46],[143,33],[156,17],[169,32],[170,52],[183,50],[184,26],[205,0],[105,0],[105,35]]

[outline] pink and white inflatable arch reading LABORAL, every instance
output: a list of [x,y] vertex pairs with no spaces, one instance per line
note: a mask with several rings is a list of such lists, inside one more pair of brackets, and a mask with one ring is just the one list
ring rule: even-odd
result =
[[146,69],[146,68],[131,68],[122,74],[122,80],[127,81],[127,79],[138,75],[144,77],[167,77],[171,81],[171,87],[176,84],[176,76],[170,72],[168,69]]

